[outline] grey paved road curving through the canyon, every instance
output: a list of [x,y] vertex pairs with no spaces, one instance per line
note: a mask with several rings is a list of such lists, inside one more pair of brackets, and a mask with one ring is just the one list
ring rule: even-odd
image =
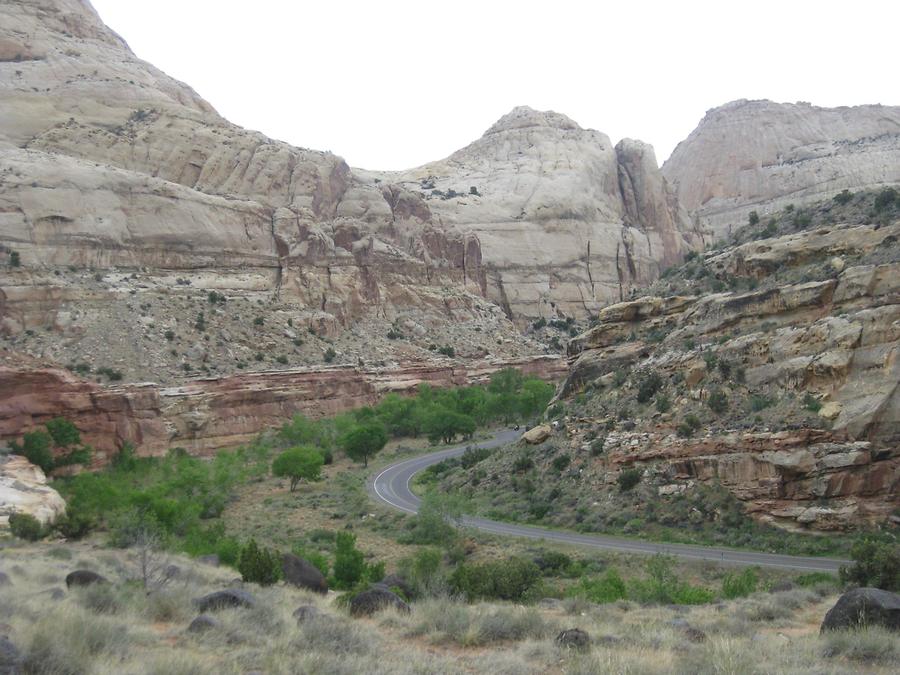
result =
[[[479,448],[495,448],[517,440],[521,432],[513,430],[500,431],[493,438],[478,443],[466,443],[427,455],[413,457],[412,459],[396,462],[381,469],[370,477],[367,489],[375,500],[392,506],[395,509],[416,513],[421,500],[413,494],[409,487],[412,477],[427,469],[432,464],[450,458],[457,457],[465,452],[469,446]],[[648,541],[626,539],[624,537],[610,537],[596,534],[578,534],[564,530],[551,530],[532,525],[518,525],[513,523],[501,523],[485,518],[463,518],[464,526],[473,527],[492,534],[502,534],[512,537],[525,537],[528,539],[541,539],[545,542],[559,542],[606,551],[621,551],[623,553],[666,553],[687,560],[709,560],[717,563],[731,565],[759,565],[760,567],[777,567],[782,569],[807,571],[807,572],[835,572],[846,560],[832,558],[814,558],[793,555],[778,555],[774,553],[757,553],[754,551],[739,551],[729,548],[714,546],[693,546],[690,544],[658,544]]]

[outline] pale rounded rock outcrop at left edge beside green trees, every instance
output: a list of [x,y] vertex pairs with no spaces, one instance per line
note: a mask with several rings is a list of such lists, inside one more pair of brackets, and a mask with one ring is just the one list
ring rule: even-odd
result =
[[40,468],[18,455],[0,455],[0,529],[13,513],[51,523],[66,512],[66,502],[47,485]]

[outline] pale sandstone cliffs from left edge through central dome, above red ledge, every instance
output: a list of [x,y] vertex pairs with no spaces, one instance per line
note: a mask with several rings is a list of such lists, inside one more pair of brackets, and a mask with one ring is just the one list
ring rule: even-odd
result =
[[546,348],[510,320],[586,316],[695,239],[649,146],[562,115],[516,109],[443,162],[356,171],[230,124],[86,0],[0,19],[0,262],[18,263],[0,333],[33,356],[157,381],[329,347],[518,358]]

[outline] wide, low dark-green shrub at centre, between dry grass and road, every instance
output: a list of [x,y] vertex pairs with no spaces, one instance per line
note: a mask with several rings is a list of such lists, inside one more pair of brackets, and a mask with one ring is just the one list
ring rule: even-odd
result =
[[469,600],[521,601],[540,578],[541,571],[531,560],[507,558],[464,563],[450,575],[450,585]]

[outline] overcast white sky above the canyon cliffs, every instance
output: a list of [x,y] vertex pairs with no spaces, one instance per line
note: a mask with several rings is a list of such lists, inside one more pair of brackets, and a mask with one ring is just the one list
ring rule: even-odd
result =
[[900,104],[900,3],[92,0],[231,121],[352,166],[441,159],[516,105],[660,163],[737,98]]

